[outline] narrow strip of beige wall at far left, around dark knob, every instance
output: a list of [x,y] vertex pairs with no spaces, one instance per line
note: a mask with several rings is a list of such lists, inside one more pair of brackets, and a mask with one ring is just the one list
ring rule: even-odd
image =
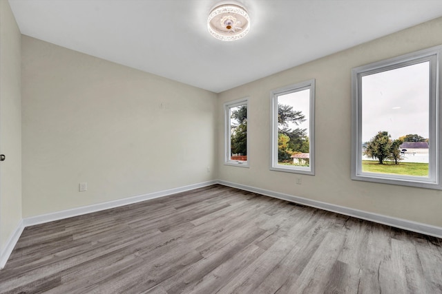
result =
[[0,1],[0,252],[21,221],[21,34]]

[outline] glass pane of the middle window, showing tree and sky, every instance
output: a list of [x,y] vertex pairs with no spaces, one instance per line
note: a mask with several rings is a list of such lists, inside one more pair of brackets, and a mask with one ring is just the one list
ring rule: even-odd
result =
[[310,90],[279,95],[278,165],[309,167]]

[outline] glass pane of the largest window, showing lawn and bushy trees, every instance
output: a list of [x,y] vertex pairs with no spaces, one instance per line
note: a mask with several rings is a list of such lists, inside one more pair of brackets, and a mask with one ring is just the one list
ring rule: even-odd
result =
[[362,76],[364,173],[429,176],[430,62]]

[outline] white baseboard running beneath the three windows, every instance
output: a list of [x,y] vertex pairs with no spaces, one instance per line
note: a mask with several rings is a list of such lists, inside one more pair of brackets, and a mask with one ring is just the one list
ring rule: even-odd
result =
[[362,211],[358,209],[352,209],[349,207],[342,207],[335,204],[329,204],[326,202],[320,202],[316,200],[311,200],[307,198],[302,198],[298,196],[291,196],[285,193],[279,193],[275,191],[269,191],[265,189],[260,189],[256,187],[250,187],[246,185],[237,184],[234,182],[227,182],[224,180],[218,180],[218,184],[233,187],[237,189],[242,189],[245,191],[250,191],[253,193],[262,194],[265,196],[270,196],[273,198],[278,198],[282,200],[287,200],[290,202],[295,202],[298,204],[303,204],[309,207],[315,207],[318,209],[323,209],[327,211],[332,211],[336,213],[343,214],[345,216],[353,216],[355,218],[361,218],[363,220],[369,220],[371,222],[377,222],[379,224],[387,224],[390,227],[396,227],[399,229],[405,229],[407,231],[413,231],[416,233],[423,233],[425,235],[431,235],[437,238],[442,238],[442,227],[432,226],[430,224],[423,224],[421,222],[413,222],[411,220],[404,220],[402,218],[394,218],[391,216],[383,216],[377,213],[371,213],[367,211]]

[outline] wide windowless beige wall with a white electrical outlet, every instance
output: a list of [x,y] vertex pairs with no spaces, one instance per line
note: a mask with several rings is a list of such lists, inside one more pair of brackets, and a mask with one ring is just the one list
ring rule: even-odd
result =
[[215,179],[216,94],[28,36],[22,46],[23,218]]

